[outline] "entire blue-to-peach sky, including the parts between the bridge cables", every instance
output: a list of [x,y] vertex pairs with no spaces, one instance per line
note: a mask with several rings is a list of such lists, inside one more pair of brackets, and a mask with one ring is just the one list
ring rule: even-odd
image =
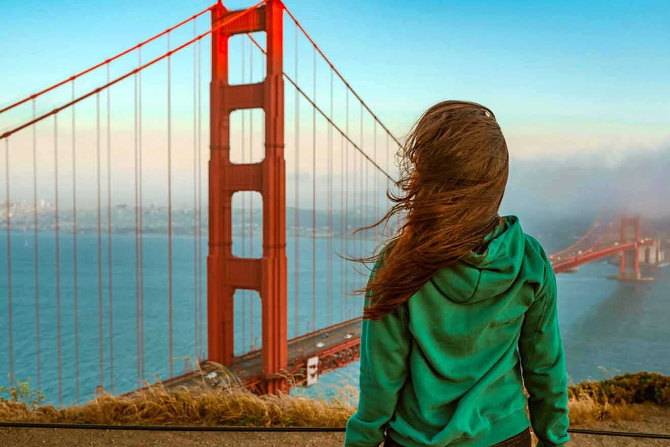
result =
[[[229,9],[251,5],[238,0],[225,4]],[[612,190],[617,182],[622,182],[612,173],[622,172],[622,166],[632,166],[634,163],[631,164],[631,160],[640,157],[654,160],[656,156],[667,155],[665,148],[670,144],[670,27],[667,27],[670,23],[670,3],[665,1],[287,0],[285,4],[350,85],[398,137],[402,137],[433,103],[444,99],[464,99],[482,103],[496,114],[507,139],[511,161],[517,163],[516,168],[511,167],[512,172],[574,172],[586,164],[592,169],[584,175],[598,178],[600,183],[591,186],[584,180],[584,188]],[[0,85],[0,105],[7,105],[105,60],[208,5],[210,1],[200,0],[119,0],[113,3],[2,0],[0,78],[3,82]],[[206,29],[206,17],[198,21],[198,32]],[[295,31],[288,19],[284,23],[285,72],[294,76]],[[192,25],[185,28],[181,34],[176,32],[172,35],[173,46],[193,35]],[[263,41],[262,36],[259,40]],[[147,60],[149,56],[160,54],[165,50],[165,44],[163,40],[147,46],[143,58]],[[202,135],[206,140],[208,41],[203,40],[202,45]],[[233,78],[240,76],[237,70],[240,68],[241,38],[231,39],[230,48],[231,61],[236,58],[238,61],[230,62],[230,70],[234,72],[231,82],[239,82],[239,78]],[[245,52],[248,51],[249,46],[246,46]],[[298,54],[299,84],[308,94],[313,94],[313,53],[302,37]],[[261,58],[259,54],[253,57],[254,80],[257,81],[260,80]],[[182,148],[193,145],[193,58],[192,48],[187,48],[172,60],[172,139],[177,147],[174,149],[173,169],[184,176],[192,171],[192,149]],[[249,64],[248,55],[246,61]],[[163,117],[167,83],[166,64],[163,62],[143,74],[143,141],[147,179],[151,178],[151,172],[155,172],[157,178],[164,176],[167,169]],[[328,69],[321,61],[318,63],[317,103],[328,109]],[[137,64],[137,56],[120,60],[112,66],[112,75],[133,68],[133,64]],[[77,93],[103,82],[105,72],[96,76],[90,80],[78,80]],[[249,70],[246,76],[249,76]],[[126,184],[133,166],[132,88],[133,81],[129,79],[113,90],[113,145],[116,155],[113,176],[118,176],[115,184]],[[288,84],[285,92],[286,159],[287,170],[290,170],[295,166],[295,92]],[[336,82],[334,115],[342,127],[343,92],[342,86]],[[54,95],[38,103],[38,111],[50,110],[70,94],[68,86],[61,97]],[[77,144],[90,149],[95,143],[95,103],[92,98],[87,101],[77,111],[76,135]],[[100,101],[104,157],[104,94]],[[350,133],[358,135],[361,133],[357,115],[359,106],[351,101]],[[28,105],[5,121],[0,118],[0,130],[11,127],[30,114]],[[241,113],[236,114],[237,117],[231,117],[233,125],[237,126],[233,133],[241,131]],[[245,116],[249,120],[249,116]],[[300,105],[299,116],[299,150],[302,150],[299,170],[309,177],[312,170],[312,113],[304,102]],[[62,133],[59,136],[61,151],[72,145],[67,133],[71,126],[69,119],[68,112],[59,115],[59,123],[62,123],[59,128],[59,135]],[[291,119],[293,121],[289,122]],[[252,127],[258,134],[254,143],[258,146],[255,157],[259,157],[263,150],[259,144],[260,113],[256,114],[254,123]],[[327,145],[326,124],[318,121],[318,125],[318,137],[314,141],[321,148]],[[371,119],[364,123],[362,133],[366,151],[371,151],[374,144],[372,126]],[[49,142],[50,138],[53,141],[53,127],[51,121],[41,127],[38,125],[36,131],[41,150],[43,146],[53,145]],[[249,127],[247,123],[247,132]],[[30,135],[27,131],[24,133],[10,142],[12,148],[19,148],[11,152],[14,162],[12,179],[17,177],[17,184],[21,183],[18,179],[19,166],[31,169]],[[379,135],[378,144],[381,145],[383,134]],[[339,143],[339,140],[335,139],[334,143]],[[246,144],[248,148],[249,142]],[[87,155],[86,149],[77,147],[78,163],[93,166],[94,153]],[[124,152],[126,149],[127,152]],[[324,153],[326,151],[319,151],[317,175],[325,174],[328,167]],[[63,154],[65,158],[59,159],[59,162],[68,167],[72,163],[71,157],[68,159]],[[206,158],[203,155],[201,166],[204,168]],[[379,158],[379,161],[383,163],[385,159]],[[53,170],[52,163],[47,163],[45,169]],[[104,160],[102,169],[104,174]],[[340,166],[334,169],[338,170]],[[639,171],[634,176],[644,178],[643,168],[637,169]],[[82,181],[90,182],[93,171],[80,168],[78,175],[82,178],[88,176],[88,180]],[[68,172],[62,176],[68,178]],[[541,174],[535,177],[539,177],[537,181],[548,178]],[[512,196],[519,203],[522,192],[533,188],[529,180],[524,179],[511,179],[511,189],[519,191]],[[47,190],[53,179],[44,181]],[[612,184],[604,186],[602,182],[605,181]],[[662,181],[662,178],[659,179],[659,182]],[[28,186],[31,187],[31,184],[28,183],[26,188]],[[540,189],[544,190],[544,186]],[[547,194],[555,196],[564,189],[555,187],[553,193]],[[17,190],[21,190],[20,185]],[[561,202],[570,202],[570,196],[562,199],[563,196]]]

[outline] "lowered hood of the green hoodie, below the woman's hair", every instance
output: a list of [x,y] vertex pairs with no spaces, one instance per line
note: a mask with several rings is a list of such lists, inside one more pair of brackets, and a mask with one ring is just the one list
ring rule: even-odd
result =
[[440,269],[431,278],[447,298],[462,303],[486,300],[505,292],[519,275],[525,249],[519,218],[504,216],[484,239],[491,239],[486,253]]

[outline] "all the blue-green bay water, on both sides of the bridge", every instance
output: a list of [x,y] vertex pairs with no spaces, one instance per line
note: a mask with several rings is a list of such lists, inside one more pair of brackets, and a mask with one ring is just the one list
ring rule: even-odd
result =
[[[107,235],[101,239],[102,284],[98,283],[98,237],[77,237],[78,300],[78,375],[79,401],[94,397],[100,383],[100,335],[103,348],[103,386],[114,393],[137,388],[139,379],[153,382],[170,377],[170,332],[168,318],[167,237],[144,236],[144,369],[137,367],[137,321],[135,235],[112,235],[112,314],[110,342],[109,275]],[[353,266],[342,268],[342,261],[331,256],[329,282],[328,241],[316,239],[312,262],[312,239],[299,237],[298,318],[295,320],[295,239],[287,237],[288,329],[289,337],[335,324],[360,315],[360,297],[344,298],[344,291],[360,287],[366,275]],[[233,251],[241,254],[241,239],[233,241]],[[547,251],[569,241],[541,240]],[[349,241],[354,247],[373,247]],[[58,404],[58,306],[56,305],[56,262],[53,233],[39,234],[39,324],[40,384],[46,401]],[[245,241],[249,246],[249,239]],[[342,253],[343,241],[332,240],[332,249]],[[7,235],[0,233],[0,385],[9,385],[9,309],[7,300]],[[196,325],[198,282],[194,271],[194,239],[175,236],[173,251],[173,360],[174,375],[184,373],[184,357],[206,357],[206,238],[202,240],[202,349],[200,327]],[[247,253],[249,250],[247,249]],[[261,247],[255,240],[252,255]],[[61,234],[60,265],[60,350],[61,397],[63,405],[76,403],[76,349],[74,330],[74,263],[72,235]],[[312,270],[314,267],[314,294]],[[356,266],[359,271],[363,267]],[[605,261],[584,265],[578,273],[557,276],[559,322],[572,381],[600,379],[624,371],[656,371],[670,374],[670,349],[667,316],[670,314],[670,268],[647,267],[643,275],[653,282],[619,282],[606,279],[616,267]],[[348,286],[345,286],[348,283]],[[330,291],[330,292],[329,292]],[[30,377],[38,388],[36,286],[33,233],[11,233],[12,335],[15,377]],[[102,301],[102,312],[99,302]],[[312,304],[315,304],[314,312]],[[250,312],[253,307],[253,314]],[[99,321],[102,318],[102,334]],[[260,301],[255,292],[235,295],[235,352],[241,354],[260,347]],[[111,356],[113,353],[113,357]],[[113,360],[113,368],[111,361]],[[303,390],[312,395],[330,394],[330,385],[358,385],[358,363],[322,375],[318,385]]]

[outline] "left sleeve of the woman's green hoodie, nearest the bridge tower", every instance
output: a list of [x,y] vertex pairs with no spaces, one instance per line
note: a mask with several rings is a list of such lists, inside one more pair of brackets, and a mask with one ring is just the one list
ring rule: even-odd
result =
[[[365,301],[366,306],[371,304],[369,297]],[[379,446],[384,440],[385,426],[407,377],[406,312],[405,306],[399,306],[377,320],[362,321],[358,410],[346,424],[345,447]]]

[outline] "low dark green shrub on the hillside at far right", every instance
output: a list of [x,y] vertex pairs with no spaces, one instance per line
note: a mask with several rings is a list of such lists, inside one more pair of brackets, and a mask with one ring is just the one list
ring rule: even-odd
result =
[[600,382],[582,382],[568,388],[571,399],[579,400],[588,395],[604,403],[653,402],[670,407],[670,376],[657,373],[626,373]]

